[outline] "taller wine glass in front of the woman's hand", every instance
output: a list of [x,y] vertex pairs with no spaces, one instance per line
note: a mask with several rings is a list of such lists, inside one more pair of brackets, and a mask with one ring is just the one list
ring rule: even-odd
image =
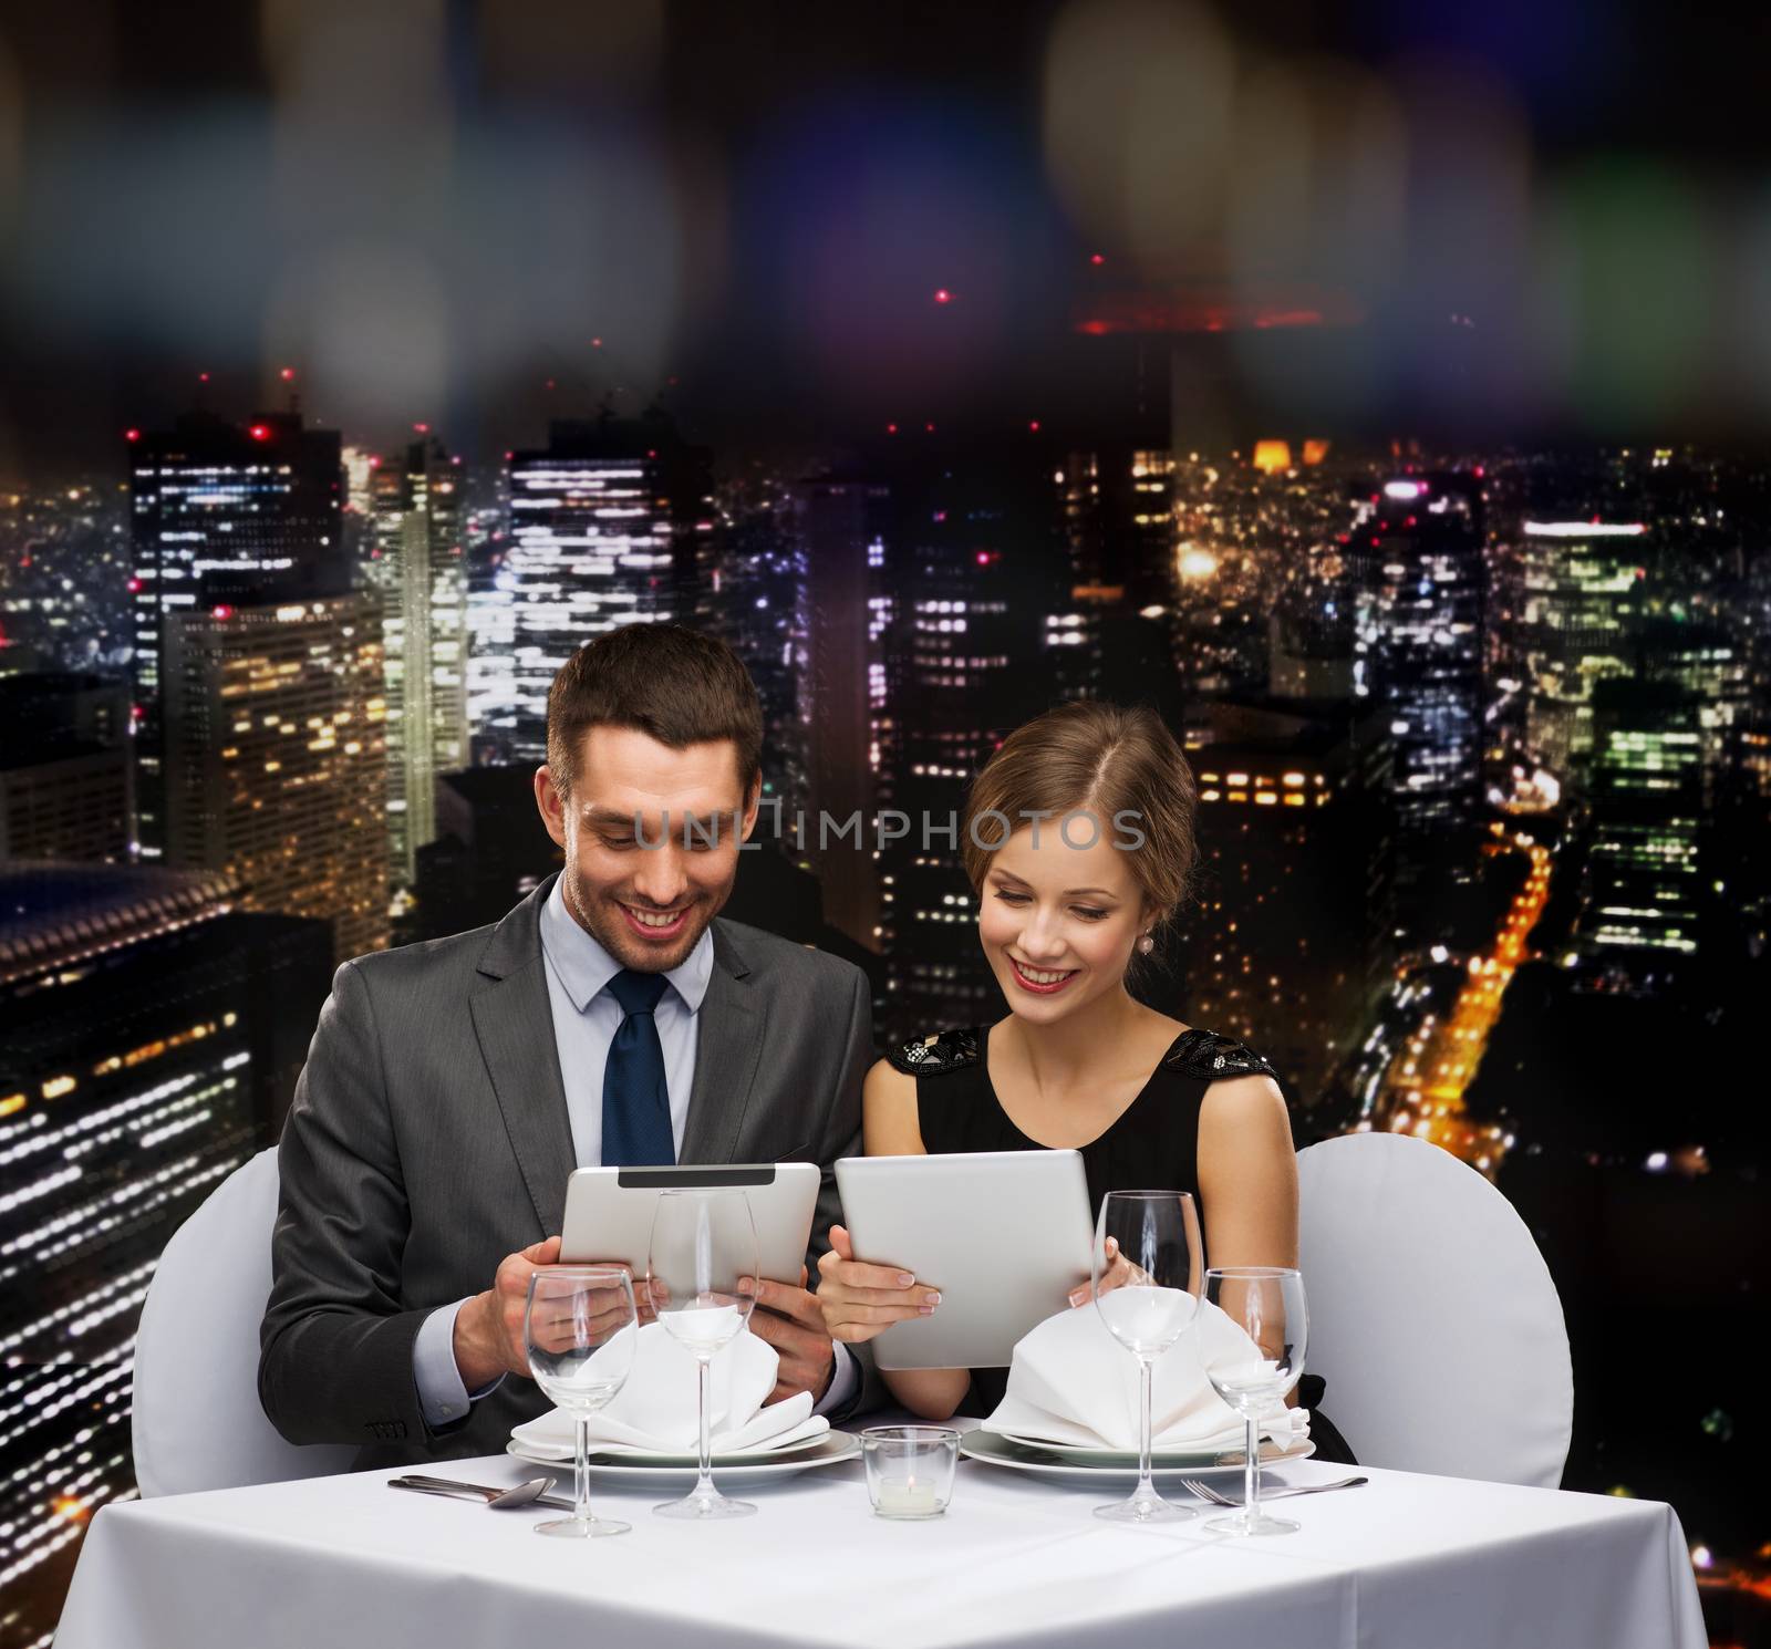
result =
[[1137,1488],[1130,1500],[1096,1506],[1121,1523],[1178,1523],[1192,1507],[1174,1506],[1149,1479],[1149,1385],[1162,1357],[1199,1316],[1204,1243],[1199,1210],[1183,1190],[1110,1190],[1094,1226],[1094,1305],[1121,1346],[1137,1359]]

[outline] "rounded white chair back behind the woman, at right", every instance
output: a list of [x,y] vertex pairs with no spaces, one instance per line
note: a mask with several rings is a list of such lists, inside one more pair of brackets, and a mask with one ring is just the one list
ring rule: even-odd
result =
[[1360,1465],[1555,1488],[1574,1422],[1562,1300],[1512,1204],[1449,1151],[1298,1153],[1307,1373]]

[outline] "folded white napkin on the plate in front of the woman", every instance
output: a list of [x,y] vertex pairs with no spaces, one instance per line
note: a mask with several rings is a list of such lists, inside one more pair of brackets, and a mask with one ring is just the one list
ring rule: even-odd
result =
[[[1194,1327],[1156,1359],[1151,1380],[1151,1445],[1164,1451],[1236,1449],[1245,1440],[1241,1415],[1213,1389],[1206,1373],[1257,1360],[1259,1348],[1217,1305],[1201,1304]],[[1061,1311],[1015,1344],[1008,1392],[985,1429],[1079,1449],[1139,1445],[1137,1359],[1107,1332],[1094,1305]],[[1309,1410],[1273,1401],[1261,1415],[1261,1436],[1282,1449],[1309,1436]]]

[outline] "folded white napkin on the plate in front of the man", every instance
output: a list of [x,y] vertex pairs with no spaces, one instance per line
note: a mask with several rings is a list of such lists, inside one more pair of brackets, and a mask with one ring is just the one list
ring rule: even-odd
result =
[[[599,1451],[638,1449],[648,1454],[692,1454],[698,1444],[694,1357],[662,1323],[636,1332],[634,1371],[607,1408],[590,1417],[590,1444]],[[763,1408],[774,1390],[779,1357],[765,1339],[746,1330],[714,1353],[707,1382],[708,1431],[715,1454],[785,1449],[831,1429],[811,1412],[811,1392]],[[553,1408],[512,1433],[531,1454],[570,1459],[576,1447],[572,1412]]]

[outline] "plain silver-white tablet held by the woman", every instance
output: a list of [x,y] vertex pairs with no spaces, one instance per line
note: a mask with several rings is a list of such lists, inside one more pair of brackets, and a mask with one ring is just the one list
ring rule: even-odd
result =
[[1077,1151],[839,1157],[855,1259],[940,1289],[932,1316],[870,1341],[882,1369],[1008,1367],[1089,1277],[1094,1226]]

